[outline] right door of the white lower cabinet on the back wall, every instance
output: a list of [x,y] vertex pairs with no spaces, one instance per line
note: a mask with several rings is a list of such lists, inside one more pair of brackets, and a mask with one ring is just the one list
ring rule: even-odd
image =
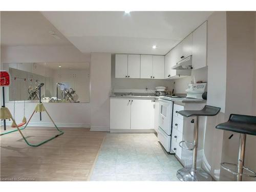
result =
[[133,99],[131,101],[131,129],[154,129],[154,102]]

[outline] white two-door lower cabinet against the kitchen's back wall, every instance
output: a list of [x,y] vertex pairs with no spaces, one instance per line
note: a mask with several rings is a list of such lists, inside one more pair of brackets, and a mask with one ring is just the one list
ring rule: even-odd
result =
[[[145,133],[154,132],[155,99],[110,99],[110,131]],[[119,130],[119,131],[118,131]]]

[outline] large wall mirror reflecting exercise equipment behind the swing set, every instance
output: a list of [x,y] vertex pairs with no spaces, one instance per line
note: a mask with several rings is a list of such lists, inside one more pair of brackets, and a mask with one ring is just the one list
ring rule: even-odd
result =
[[3,63],[10,74],[7,102],[90,102],[90,63],[33,62]]

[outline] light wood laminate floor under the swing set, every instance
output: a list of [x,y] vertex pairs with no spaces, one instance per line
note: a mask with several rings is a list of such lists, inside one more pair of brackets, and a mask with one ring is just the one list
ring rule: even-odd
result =
[[[18,132],[1,136],[1,180],[87,181],[106,132],[61,130],[65,134],[38,147],[28,146]],[[27,127],[23,133],[38,143],[58,132],[54,127]]]

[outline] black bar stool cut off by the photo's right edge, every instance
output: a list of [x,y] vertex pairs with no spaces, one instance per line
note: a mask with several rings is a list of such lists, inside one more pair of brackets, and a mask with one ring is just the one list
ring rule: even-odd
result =
[[[237,181],[242,181],[243,176],[256,177],[256,173],[253,172],[253,170],[244,167],[246,135],[256,135],[256,116],[231,114],[227,122],[218,124],[216,128],[220,130],[240,133],[238,164],[223,162],[221,163],[221,167],[228,172],[237,175]],[[236,167],[237,171],[231,170],[228,166]],[[249,174],[244,174],[244,169],[247,170]]]

